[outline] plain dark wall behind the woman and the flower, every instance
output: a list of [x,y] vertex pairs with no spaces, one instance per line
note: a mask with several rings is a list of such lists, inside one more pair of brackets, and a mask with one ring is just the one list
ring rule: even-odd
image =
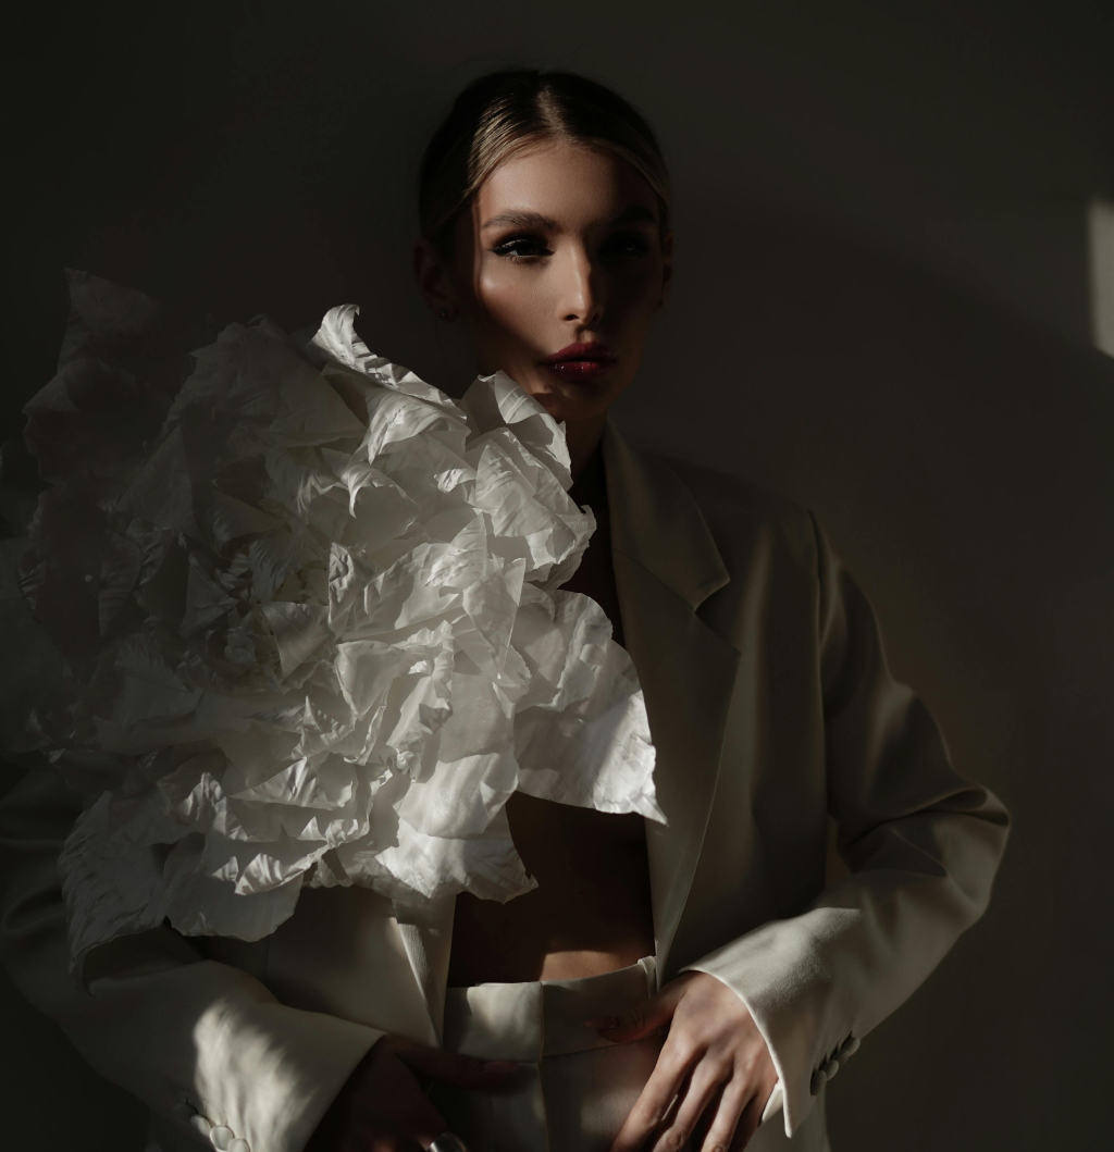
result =
[[[5,50],[2,435],[51,373],[63,265],[221,320],[359,301],[378,351],[461,386],[408,273],[425,134],[508,62],[615,84],[660,129],[679,230],[621,425],[816,508],[1016,818],[986,919],[832,1085],[833,1145],[1107,1146],[1114,361],[1085,219],[1114,198],[1114,9],[94,7]],[[6,1144],[138,1152],[139,1111],[7,984],[0,1034]]]

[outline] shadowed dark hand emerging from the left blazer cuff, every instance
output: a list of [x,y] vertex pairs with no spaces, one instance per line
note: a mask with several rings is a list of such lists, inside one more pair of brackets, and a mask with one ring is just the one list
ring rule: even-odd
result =
[[425,1152],[447,1126],[419,1076],[492,1089],[514,1068],[384,1037],[348,1077],[305,1152]]

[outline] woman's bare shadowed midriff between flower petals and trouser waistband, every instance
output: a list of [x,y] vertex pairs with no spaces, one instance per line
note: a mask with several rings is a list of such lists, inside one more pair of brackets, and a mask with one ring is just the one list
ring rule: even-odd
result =
[[510,797],[507,814],[538,887],[506,904],[456,897],[450,987],[599,976],[653,954],[641,816],[522,793]]

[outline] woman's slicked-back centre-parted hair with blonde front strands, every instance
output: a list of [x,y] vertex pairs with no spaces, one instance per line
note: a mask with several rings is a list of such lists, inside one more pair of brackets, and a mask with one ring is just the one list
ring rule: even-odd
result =
[[617,92],[569,71],[516,68],[472,81],[426,146],[418,176],[422,235],[442,253],[457,217],[516,152],[568,141],[626,161],[658,197],[669,222],[669,174],[653,129]]

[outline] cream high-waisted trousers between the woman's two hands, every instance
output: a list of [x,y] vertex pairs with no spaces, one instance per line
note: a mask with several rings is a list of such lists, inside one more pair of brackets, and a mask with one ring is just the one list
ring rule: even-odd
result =
[[[652,957],[578,980],[449,988],[445,1047],[514,1061],[518,1070],[497,1091],[435,1084],[430,1099],[469,1152],[607,1152],[653,1071],[662,1037],[608,1044],[585,1021],[619,1016],[655,988]],[[778,1113],[748,1150],[827,1146],[820,1099],[793,1140]]]

